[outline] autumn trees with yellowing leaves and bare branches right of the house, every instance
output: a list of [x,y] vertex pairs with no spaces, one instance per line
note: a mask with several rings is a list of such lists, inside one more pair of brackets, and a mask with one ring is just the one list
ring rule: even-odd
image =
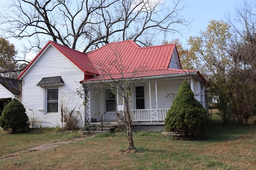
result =
[[256,115],[255,7],[244,1],[227,21],[210,20],[187,47],[179,39],[164,42],[177,44],[183,69],[200,70],[208,80],[208,94],[217,97],[224,124],[247,124]]

